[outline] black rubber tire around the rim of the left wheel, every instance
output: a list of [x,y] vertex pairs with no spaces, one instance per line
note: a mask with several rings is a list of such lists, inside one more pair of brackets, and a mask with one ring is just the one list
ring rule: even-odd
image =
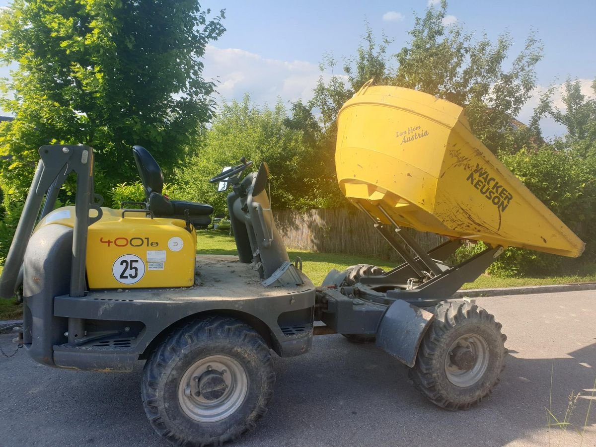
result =
[[[247,395],[228,417],[201,423],[182,411],[179,381],[197,359],[218,354],[230,356],[243,366]],[[256,427],[273,395],[274,383],[273,361],[262,337],[238,319],[212,316],[173,331],[154,350],[143,370],[142,401],[151,426],[174,445],[222,445]]]

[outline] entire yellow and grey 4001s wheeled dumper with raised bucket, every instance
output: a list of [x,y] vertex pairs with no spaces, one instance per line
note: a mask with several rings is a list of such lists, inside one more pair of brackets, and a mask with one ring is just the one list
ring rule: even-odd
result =
[[[409,367],[414,386],[442,408],[479,403],[498,382],[505,336],[473,300],[449,298],[508,245],[578,256],[582,243],[471,139],[461,110],[405,89],[368,95],[365,86],[340,111],[339,186],[403,263],[387,272],[364,264],[332,270],[315,287],[275,226],[267,164],[246,174],[252,162],[244,159],[210,180],[231,189],[238,256],[195,256],[196,230],[209,225],[213,208],[164,195],[159,164],[145,148],[133,149],[145,201],[114,210],[94,193],[91,147],[46,145],[0,277],[0,296],[23,301],[17,342],[50,367],[129,372],[145,360],[145,412],[175,445],[219,445],[253,429],[273,392],[271,350],[302,355],[314,335],[375,343]],[[418,136],[410,139],[407,129]],[[443,158],[421,157],[424,147]],[[467,178],[480,178],[480,167],[507,184],[498,203],[470,189]],[[54,209],[70,175],[75,205]],[[507,207],[518,206],[542,216],[542,238],[516,226]],[[445,235],[445,242],[423,249],[408,226]],[[465,240],[488,241],[487,248],[450,263]]]

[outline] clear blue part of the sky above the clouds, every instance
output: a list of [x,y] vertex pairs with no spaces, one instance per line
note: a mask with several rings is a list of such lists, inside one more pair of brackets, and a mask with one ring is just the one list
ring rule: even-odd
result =
[[[321,61],[324,52],[351,55],[358,47],[368,20],[375,32],[383,30],[395,39],[399,50],[414,25],[414,11],[423,14],[427,0],[337,1],[302,0],[251,2],[224,0],[203,2],[212,9],[226,8],[228,31],[216,46],[241,48],[265,58]],[[220,6],[221,5],[221,6]],[[389,11],[401,14],[397,20],[383,20]],[[455,1],[448,13],[478,34],[489,38],[508,30],[519,49],[530,30],[544,42],[545,57],[539,66],[539,82],[555,76],[596,76],[596,1]]]

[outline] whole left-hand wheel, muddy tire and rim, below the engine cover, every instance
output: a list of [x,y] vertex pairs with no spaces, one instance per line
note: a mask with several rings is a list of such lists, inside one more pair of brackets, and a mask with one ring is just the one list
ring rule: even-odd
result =
[[273,395],[269,348],[249,325],[209,317],[172,333],[145,364],[142,399],[174,445],[221,445],[254,429]]

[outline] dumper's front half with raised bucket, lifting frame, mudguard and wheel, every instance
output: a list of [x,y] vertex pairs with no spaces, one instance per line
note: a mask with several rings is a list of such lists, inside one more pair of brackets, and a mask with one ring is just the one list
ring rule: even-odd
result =
[[[405,263],[331,271],[321,320],[411,367],[414,386],[436,405],[469,408],[498,382],[506,337],[474,300],[452,294],[506,247],[575,257],[584,244],[471,133],[461,107],[370,84],[339,112],[337,179]],[[402,226],[449,240],[424,250]],[[488,248],[451,265],[464,240]]]

